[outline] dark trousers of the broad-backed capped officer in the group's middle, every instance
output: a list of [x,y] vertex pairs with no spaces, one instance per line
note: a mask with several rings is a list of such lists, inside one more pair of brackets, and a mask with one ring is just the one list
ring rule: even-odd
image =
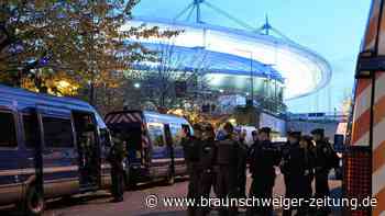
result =
[[262,206],[261,198],[271,198],[270,202],[272,202],[273,198],[273,187],[274,187],[274,179],[261,179],[261,178],[253,178],[253,181],[251,183],[250,187],[250,198],[260,198],[257,203],[254,203],[255,206],[248,209],[248,216],[272,216],[273,215],[273,206]]

